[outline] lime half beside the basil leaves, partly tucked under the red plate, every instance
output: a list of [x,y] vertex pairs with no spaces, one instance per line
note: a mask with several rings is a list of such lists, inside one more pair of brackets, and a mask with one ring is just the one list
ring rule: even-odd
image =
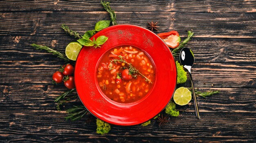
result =
[[70,60],[76,61],[76,58],[79,54],[79,51],[81,50],[83,46],[80,43],[77,42],[71,42],[66,47],[66,56]]

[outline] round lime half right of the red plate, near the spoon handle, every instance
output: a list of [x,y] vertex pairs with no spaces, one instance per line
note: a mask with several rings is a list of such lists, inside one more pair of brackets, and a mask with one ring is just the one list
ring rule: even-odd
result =
[[181,105],[181,106],[186,105],[191,100],[191,92],[189,91],[189,89],[185,87],[180,87],[176,89],[173,95],[173,100],[178,105]]

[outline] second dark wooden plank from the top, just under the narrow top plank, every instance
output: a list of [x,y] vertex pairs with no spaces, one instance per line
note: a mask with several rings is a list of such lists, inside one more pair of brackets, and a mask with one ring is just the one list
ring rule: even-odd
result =
[[[94,24],[109,19],[106,12],[13,12],[2,13],[0,35],[65,35],[61,24],[80,33],[90,30]],[[70,17],[76,17],[71,19]],[[86,18],[85,18],[86,17]],[[193,30],[195,37],[256,38],[256,13],[180,13],[180,12],[119,12],[119,24],[135,24],[147,27],[158,22],[159,32],[175,29],[182,37],[186,30]]]

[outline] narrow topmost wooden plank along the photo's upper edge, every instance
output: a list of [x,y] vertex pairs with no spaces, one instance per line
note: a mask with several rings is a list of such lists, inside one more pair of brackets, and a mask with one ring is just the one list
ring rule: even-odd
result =
[[[255,0],[111,0],[115,11],[255,13]],[[0,11],[104,11],[99,0],[2,0]]]

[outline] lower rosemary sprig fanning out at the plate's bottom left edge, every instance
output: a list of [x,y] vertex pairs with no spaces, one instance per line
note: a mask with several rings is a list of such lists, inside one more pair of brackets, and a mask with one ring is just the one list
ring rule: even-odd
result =
[[67,109],[67,117],[65,117],[66,120],[70,119],[71,121],[79,120],[81,119],[88,110],[85,108],[85,106],[73,106],[70,109]]

